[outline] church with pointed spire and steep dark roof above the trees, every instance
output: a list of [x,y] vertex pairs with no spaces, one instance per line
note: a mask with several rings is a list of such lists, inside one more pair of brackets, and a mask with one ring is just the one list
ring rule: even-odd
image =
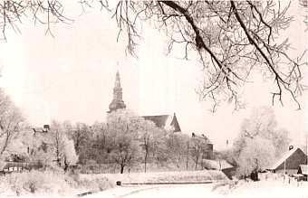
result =
[[[120,73],[119,71],[117,71],[116,80],[113,88],[113,99],[111,101],[111,104],[109,105],[110,110],[108,111],[108,113],[122,108],[126,108],[126,105],[122,99],[122,88],[120,87]],[[176,113],[173,113],[172,115],[142,116],[142,118],[154,122],[157,127],[162,127],[165,129],[172,128],[173,132],[181,132]]]

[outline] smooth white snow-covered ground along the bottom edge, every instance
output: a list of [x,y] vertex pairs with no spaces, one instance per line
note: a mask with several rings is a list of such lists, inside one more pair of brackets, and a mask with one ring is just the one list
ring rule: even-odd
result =
[[278,197],[283,198],[308,198],[308,183],[288,184],[287,181],[261,181],[241,182],[236,188],[229,189],[228,186],[217,188],[216,184],[175,184],[175,185],[150,185],[116,187],[105,192],[95,193],[86,198],[142,198],[142,197]]

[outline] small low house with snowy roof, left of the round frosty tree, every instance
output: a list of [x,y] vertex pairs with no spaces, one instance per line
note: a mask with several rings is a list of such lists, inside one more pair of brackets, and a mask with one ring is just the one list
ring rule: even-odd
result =
[[202,159],[202,167],[207,170],[222,171],[229,179],[232,179],[232,176],[236,174],[236,167],[230,165],[224,159]]

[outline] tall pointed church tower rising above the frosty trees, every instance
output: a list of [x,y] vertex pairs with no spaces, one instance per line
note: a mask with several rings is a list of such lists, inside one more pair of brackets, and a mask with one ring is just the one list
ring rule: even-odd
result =
[[110,110],[108,111],[108,113],[111,113],[112,111],[117,110],[119,108],[126,108],[126,105],[124,104],[124,101],[122,99],[122,88],[120,87],[120,74],[119,71],[117,71],[116,80],[113,88],[113,99],[111,101],[111,104],[109,105]]

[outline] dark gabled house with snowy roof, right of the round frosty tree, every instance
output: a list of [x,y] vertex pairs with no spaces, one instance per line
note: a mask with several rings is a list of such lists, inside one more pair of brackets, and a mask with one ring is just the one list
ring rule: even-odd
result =
[[300,165],[307,163],[307,156],[299,147],[290,147],[289,151],[284,153],[273,165],[266,168],[273,173],[296,174]]

